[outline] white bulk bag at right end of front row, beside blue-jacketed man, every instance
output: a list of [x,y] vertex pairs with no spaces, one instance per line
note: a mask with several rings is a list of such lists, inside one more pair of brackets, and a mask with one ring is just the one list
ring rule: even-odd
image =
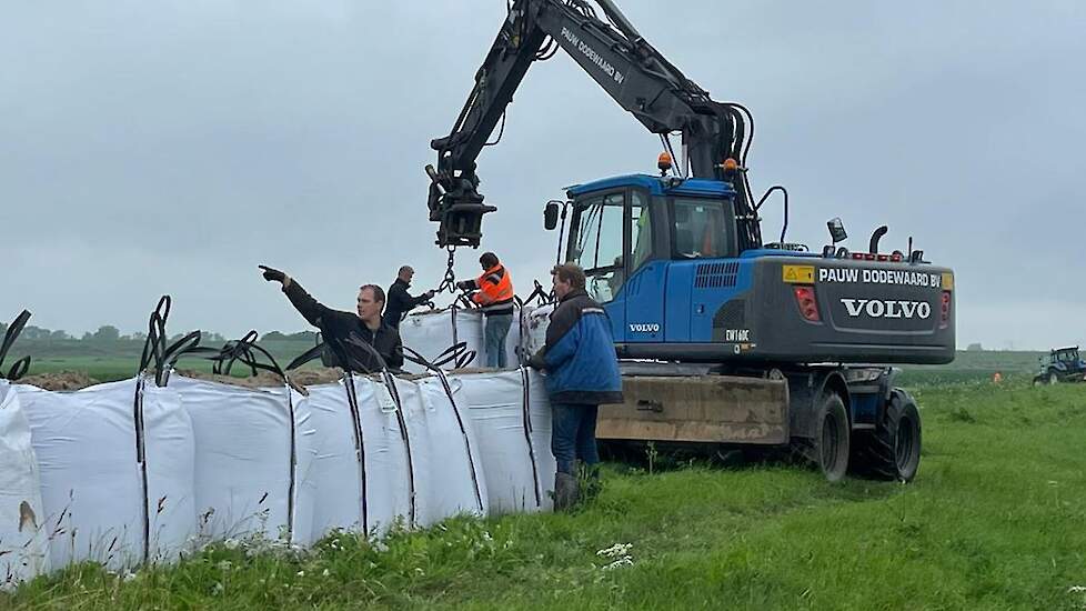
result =
[[551,405],[539,373],[455,374],[467,403],[493,514],[553,508]]

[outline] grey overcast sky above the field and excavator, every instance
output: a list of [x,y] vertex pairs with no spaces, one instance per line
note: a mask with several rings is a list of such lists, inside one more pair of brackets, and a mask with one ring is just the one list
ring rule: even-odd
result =
[[[754,189],[790,240],[839,216],[954,268],[958,343],[1086,344],[1086,3],[621,0],[715,99],[746,104]],[[267,263],[350,309],[444,253],[426,220],[505,0],[0,0],[0,319],[82,333],[305,328]],[[564,54],[532,67],[480,159],[484,243],[544,279],[562,187],[653,172],[658,140]],[[765,214],[766,236],[781,214]],[[457,270],[473,273],[477,253]]]

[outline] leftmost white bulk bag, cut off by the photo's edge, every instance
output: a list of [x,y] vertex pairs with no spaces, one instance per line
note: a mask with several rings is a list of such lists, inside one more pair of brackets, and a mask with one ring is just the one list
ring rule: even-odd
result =
[[19,394],[0,380],[0,588],[49,570],[38,459]]

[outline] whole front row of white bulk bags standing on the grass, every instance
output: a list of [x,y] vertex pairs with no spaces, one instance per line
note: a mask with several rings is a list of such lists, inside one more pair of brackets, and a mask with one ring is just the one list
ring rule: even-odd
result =
[[0,577],[550,509],[550,408],[529,370],[308,391],[178,374],[77,392],[0,382]]

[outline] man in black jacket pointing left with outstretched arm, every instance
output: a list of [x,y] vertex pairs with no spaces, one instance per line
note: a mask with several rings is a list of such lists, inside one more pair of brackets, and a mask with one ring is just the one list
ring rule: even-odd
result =
[[[260,266],[264,280],[279,282],[294,309],[321,330],[328,348],[323,355],[325,365],[342,367],[360,373],[381,370],[381,361],[389,369],[403,367],[403,344],[400,333],[381,320],[384,291],[376,284],[359,289],[358,313],[332,310],[319,303],[294,279],[285,273]],[[378,359],[376,354],[380,354]]]

